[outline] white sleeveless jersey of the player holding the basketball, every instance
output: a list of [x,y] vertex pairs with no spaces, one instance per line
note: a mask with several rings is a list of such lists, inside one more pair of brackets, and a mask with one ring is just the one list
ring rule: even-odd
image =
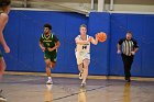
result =
[[[79,37],[79,39],[82,41],[81,37],[80,37],[80,35],[78,35],[77,37]],[[88,41],[89,37],[90,36],[87,35],[87,41]],[[90,43],[87,43],[87,44],[77,44],[76,50],[77,52],[81,52],[81,53],[90,53]]]

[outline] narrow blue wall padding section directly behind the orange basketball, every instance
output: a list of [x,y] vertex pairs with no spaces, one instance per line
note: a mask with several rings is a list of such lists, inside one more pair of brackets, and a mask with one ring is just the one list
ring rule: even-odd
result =
[[[110,33],[110,14],[91,12],[88,22],[89,35],[95,36],[98,32],[106,32],[109,37]],[[89,72],[92,75],[108,75],[108,55],[109,39],[99,43],[97,46],[91,45],[91,64]]]

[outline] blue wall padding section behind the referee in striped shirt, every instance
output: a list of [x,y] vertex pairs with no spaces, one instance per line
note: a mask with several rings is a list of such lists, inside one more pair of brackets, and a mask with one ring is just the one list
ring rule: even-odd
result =
[[153,43],[154,43],[154,15],[151,14],[111,14],[111,50],[110,73],[123,76],[121,56],[117,55],[117,42],[125,36],[127,31],[133,32],[140,50],[136,53],[132,65],[132,76],[154,77]]

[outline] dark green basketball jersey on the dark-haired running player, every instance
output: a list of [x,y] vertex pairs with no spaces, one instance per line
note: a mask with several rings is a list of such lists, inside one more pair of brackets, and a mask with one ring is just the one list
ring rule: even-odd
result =
[[58,42],[58,38],[54,34],[50,34],[46,36],[45,34],[42,34],[40,42],[43,44],[45,48],[52,48],[55,46],[55,43]]

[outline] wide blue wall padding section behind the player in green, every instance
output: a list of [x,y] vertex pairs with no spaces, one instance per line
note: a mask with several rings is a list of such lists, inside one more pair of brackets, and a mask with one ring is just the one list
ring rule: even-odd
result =
[[76,13],[16,10],[10,13],[4,32],[8,44],[12,47],[12,52],[6,55],[7,70],[45,71],[43,52],[38,47],[44,23],[53,25],[53,32],[61,41],[58,61],[53,72],[78,72],[75,37],[79,34],[79,25],[87,24],[87,18]]

